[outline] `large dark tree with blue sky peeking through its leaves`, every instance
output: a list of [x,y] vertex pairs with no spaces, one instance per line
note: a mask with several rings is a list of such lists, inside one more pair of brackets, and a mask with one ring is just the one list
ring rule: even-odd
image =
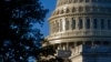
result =
[[3,62],[27,62],[39,59],[43,39],[34,23],[42,24],[48,9],[39,0],[0,0],[0,59]]

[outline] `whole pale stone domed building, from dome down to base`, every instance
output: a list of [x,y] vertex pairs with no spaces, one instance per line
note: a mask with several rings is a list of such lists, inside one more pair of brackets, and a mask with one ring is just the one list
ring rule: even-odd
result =
[[49,23],[57,56],[111,62],[111,0],[58,0]]

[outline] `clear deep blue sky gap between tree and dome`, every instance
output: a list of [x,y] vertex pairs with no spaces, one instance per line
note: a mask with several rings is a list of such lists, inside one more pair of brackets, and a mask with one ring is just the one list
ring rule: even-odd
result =
[[44,37],[47,37],[47,35],[49,35],[49,22],[48,22],[48,19],[51,17],[51,12],[56,8],[57,0],[40,0],[40,1],[41,1],[42,6],[46,9],[49,9],[49,12],[47,13],[47,17],[44,19],[43,27],[40,28],[41,29],[41,33],[43,33]]

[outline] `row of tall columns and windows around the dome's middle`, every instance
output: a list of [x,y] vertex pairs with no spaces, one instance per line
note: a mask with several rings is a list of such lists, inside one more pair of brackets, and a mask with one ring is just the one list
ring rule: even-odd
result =
[[111,19],[104,18],[64,18],[50,23],[50,32],[69,30],[111,30]]

